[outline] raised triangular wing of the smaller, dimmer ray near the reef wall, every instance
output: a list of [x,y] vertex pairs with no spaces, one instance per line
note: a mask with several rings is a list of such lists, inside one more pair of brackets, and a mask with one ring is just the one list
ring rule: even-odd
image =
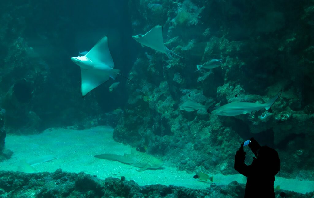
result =
[[162,38],[162,26],[160,25],[156,25],[153,29],[149,30],[138,41],[152,49],[166,53],[166,47]]

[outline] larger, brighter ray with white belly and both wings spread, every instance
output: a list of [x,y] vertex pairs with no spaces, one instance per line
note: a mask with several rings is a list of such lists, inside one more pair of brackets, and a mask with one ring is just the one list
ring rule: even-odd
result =
[[81,68],[83,97],[110,78],[115,80],[120,73],[120,70],[114,69],[107,35],[103,36],[84,56],[72,57],[71,60]]

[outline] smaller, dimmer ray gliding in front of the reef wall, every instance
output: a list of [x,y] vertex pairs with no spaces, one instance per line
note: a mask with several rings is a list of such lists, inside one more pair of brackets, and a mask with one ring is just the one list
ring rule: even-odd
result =
[[180,58],[183,58],[165,46],[164,40],[162,38],[162,28],[161,25],[156,25],[154,28],[149,30],[146,34],[138,34],[136,36],[132,36],[137,42],[147,47],[150,47],[156,51],[161,53],[165,53],[169,59],[172,59],[172,55],[174,54]]

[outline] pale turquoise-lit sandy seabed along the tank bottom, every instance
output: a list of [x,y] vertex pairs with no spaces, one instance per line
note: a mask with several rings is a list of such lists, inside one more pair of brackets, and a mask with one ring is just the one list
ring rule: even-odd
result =
[[[5,145],[14,152],[11,159],[0,163],[0,170],[17,171],[22,159],[31,160],[41,156],[52,155],[56,159],[36,164],[33,167],[39,172],[54,172],[61,168],[67,172],[82,172],[97,175],[100,179],[107,177],[134,180],[138,185],[175,185],[193,189],[208,188],[211,182],[201,182],[193,179],[194,174],[178,171],[167,164],[163,169],[136,171],[137,167],[117,161],[95,158],[94,155],[113,153],[123,155],[130,153],[131,147],[117,143],[112,138],[113,128],[98,126],[86,130],[73,130],[66,128],[49,128],[41,134],[35,135],[7,135]],[[210,173],[207,173],[211,176]],[[246,177],[236,175],[213,175],[216,185],[229,184],[236,180],[246,183]],[[280,189],[293,190],[299,193],[314,190],[314,181],[285,179],[276,177],[274,186]]]

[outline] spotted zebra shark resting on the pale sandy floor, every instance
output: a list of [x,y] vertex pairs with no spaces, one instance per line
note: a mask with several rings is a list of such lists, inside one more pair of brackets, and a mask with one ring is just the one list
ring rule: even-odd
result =
[[151,155],[141,153],[135,149],[131,149],[131,154],[125,153],[124,155],[116,155],[116,154],[105,153],[105,154],[95,155],[94,157],[101,158],[101,159],[108,159],[112,161],[119,161],[125,164],[133,164],[134,166],[140,168],[140,169],[137,169],[137,171],[143,171],[146,169],[158,169],[164,164],[159,159]]

